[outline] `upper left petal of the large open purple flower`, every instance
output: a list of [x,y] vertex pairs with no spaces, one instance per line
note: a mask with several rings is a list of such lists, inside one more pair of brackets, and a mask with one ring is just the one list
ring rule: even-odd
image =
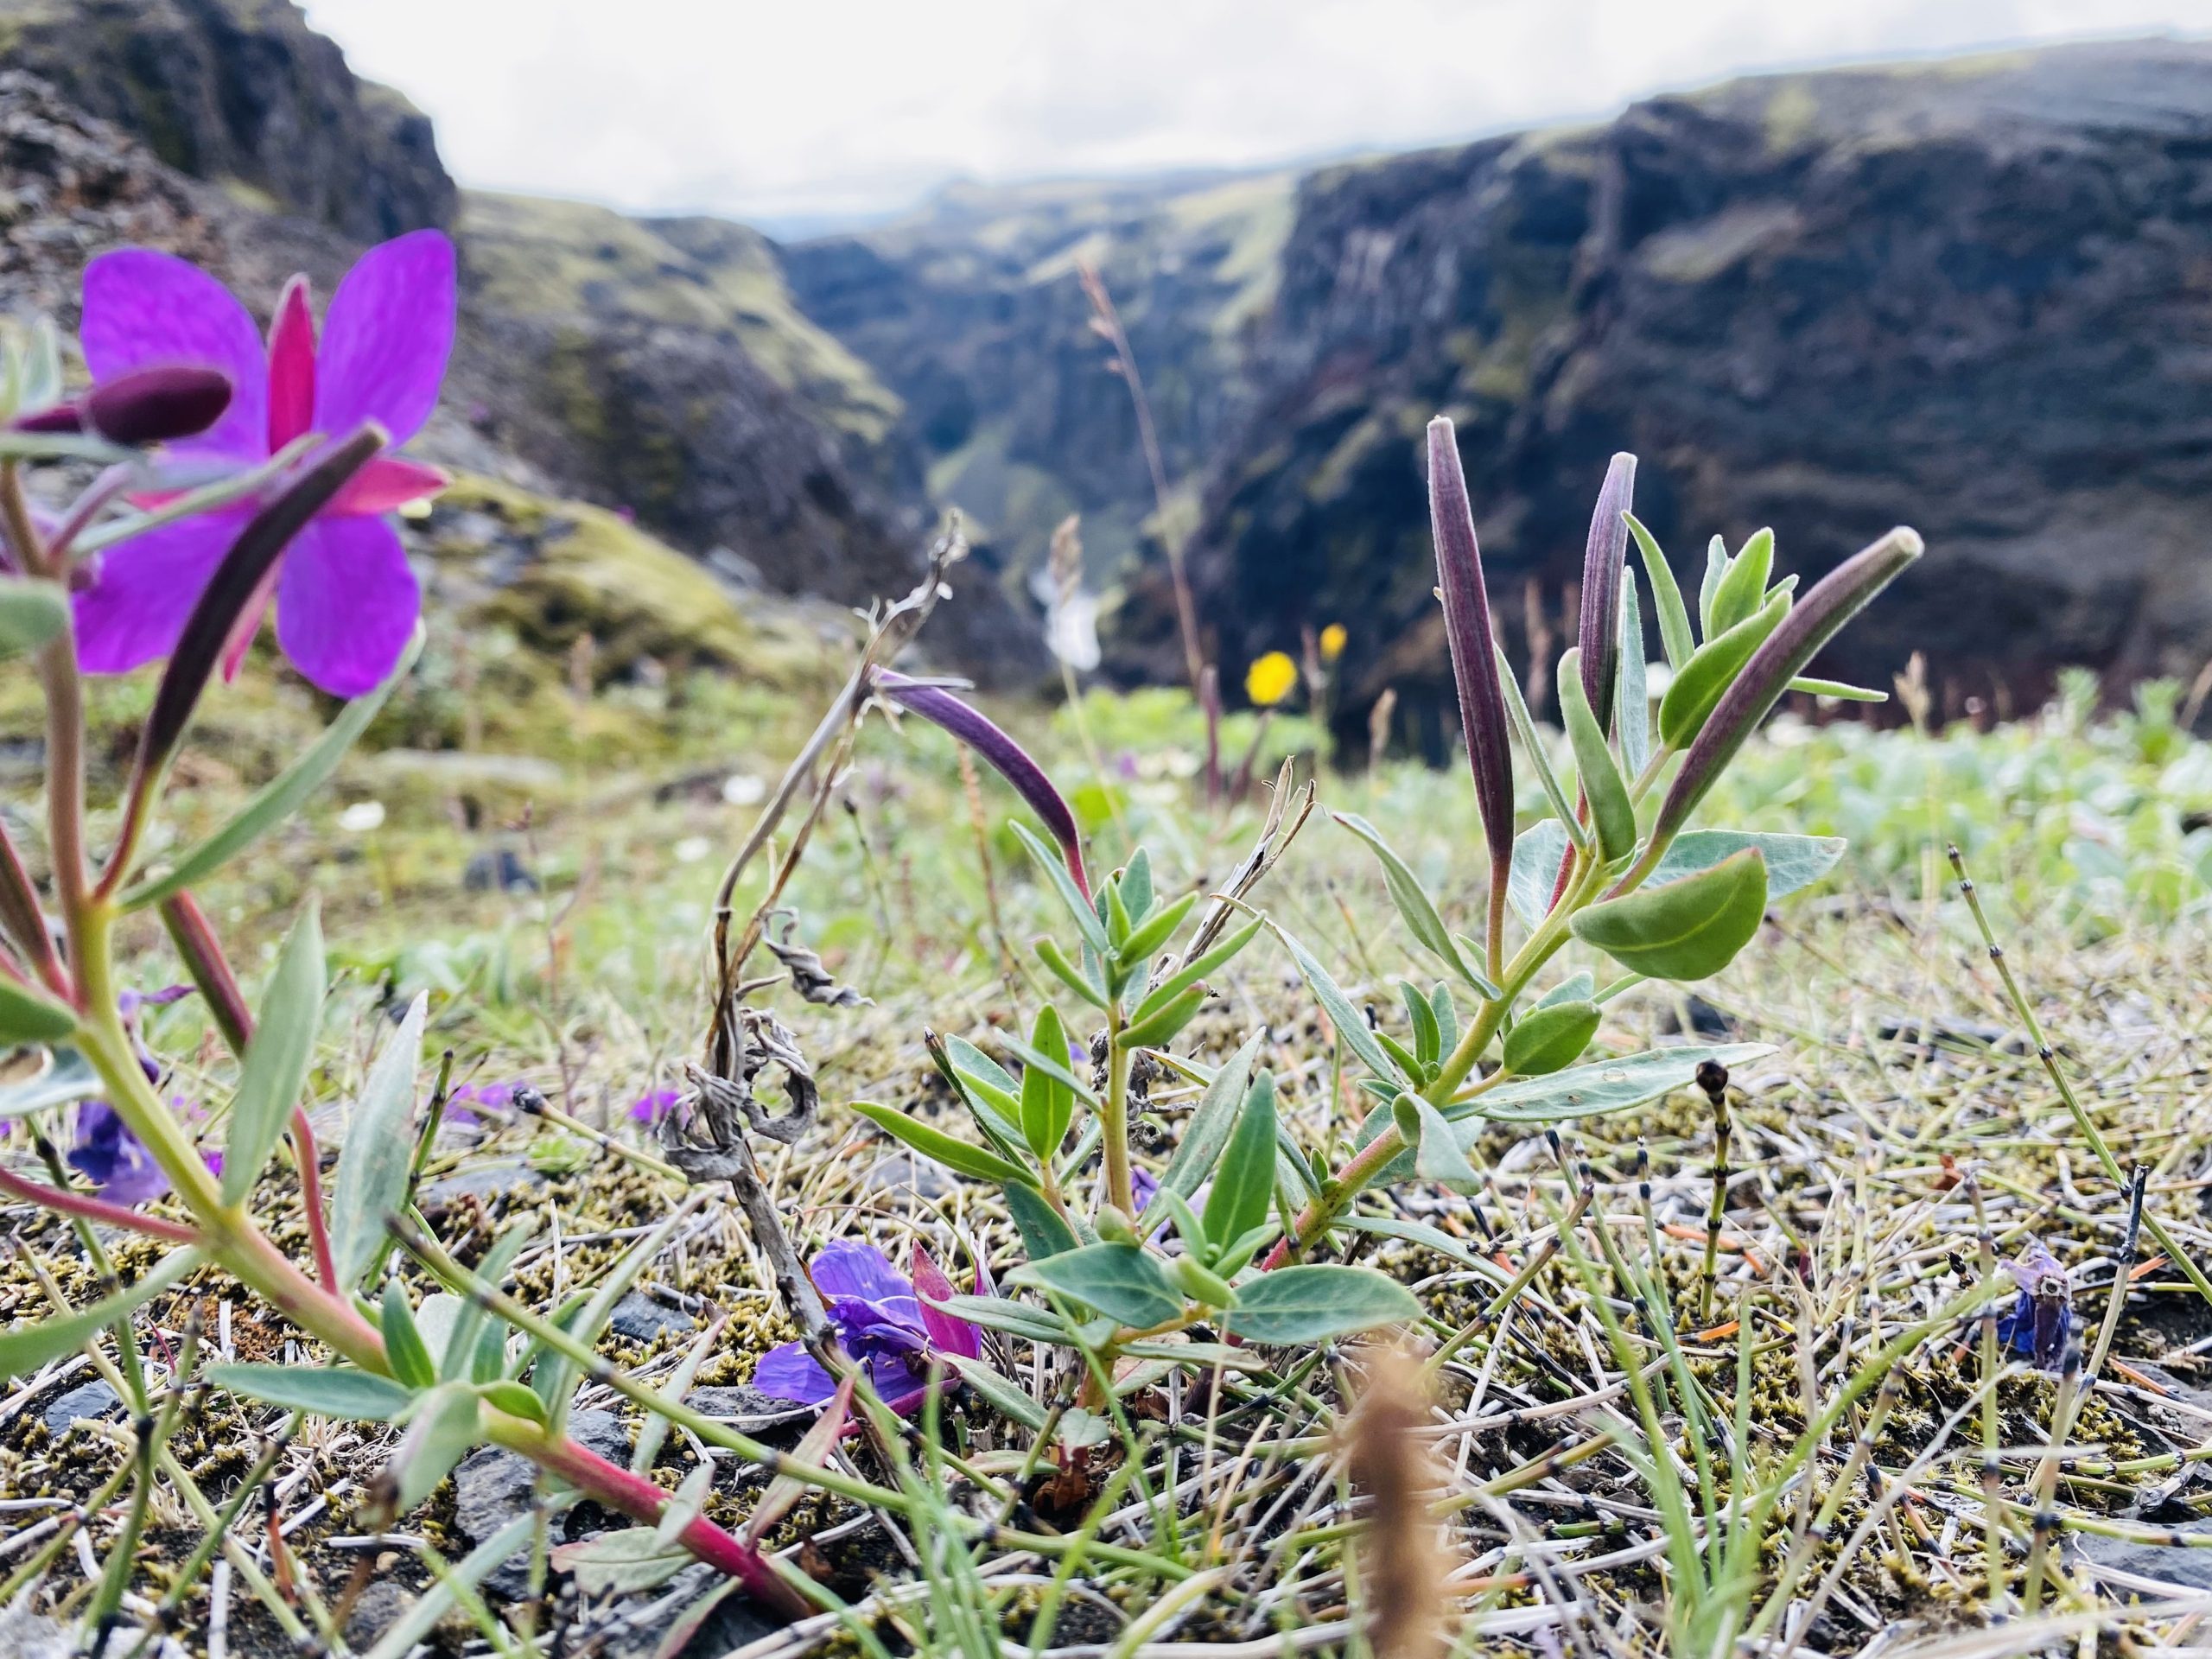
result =
[[230,376],[230,407],[179,451],[268,453],[268,358],[246,307],[199,265],[117,248],[84,268],[84,367],[93,380],[199,363]]

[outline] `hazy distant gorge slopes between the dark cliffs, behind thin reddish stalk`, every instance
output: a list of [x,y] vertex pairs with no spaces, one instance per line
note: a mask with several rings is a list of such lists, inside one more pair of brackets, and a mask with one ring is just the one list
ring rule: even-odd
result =
[[1099,270],[1150,396],[1168,520],[1248,403],[1252,338],[1290,232],[1287,173],[949,188],[916,215],[783,250],[796,303],[900,398],[896,438],[1015,566],[1084,513],[1093,571],[1161,533],[1128,387],[1077,279]]

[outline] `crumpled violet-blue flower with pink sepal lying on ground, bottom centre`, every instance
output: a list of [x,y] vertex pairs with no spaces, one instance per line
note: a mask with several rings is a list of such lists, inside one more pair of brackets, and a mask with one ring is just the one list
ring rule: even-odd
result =
[[[847,1241],[823,1245],[810,1274],[838,1343],[867,1367],[867,1380],[894,1411],[922,1402],[931,1352],[982,1354],[982,1334],[973,1325],[931,1305],[951,1296],[953,1287],[920,1248],[914,1250],[911,1281],[876,1245]],[[929,1301],[920,1298],[920,1290]],[[821,1405],[836,1394],[836,1383],[799,1343],[768,1349],[752,1387],[799,1405]]]

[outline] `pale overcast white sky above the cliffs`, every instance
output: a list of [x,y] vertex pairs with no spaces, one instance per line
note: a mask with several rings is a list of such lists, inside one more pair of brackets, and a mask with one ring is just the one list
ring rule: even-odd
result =
[[1252,166],[1601,115],[1754,69],[2093,33],[2212,0],[305,0],[462,184],[741,219]]

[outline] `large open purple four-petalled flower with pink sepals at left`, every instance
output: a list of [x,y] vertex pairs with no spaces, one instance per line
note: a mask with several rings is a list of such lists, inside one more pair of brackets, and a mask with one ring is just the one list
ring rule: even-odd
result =
[[[307,283],[276,303],[268,345],[246,307],[204,270],[150,248],[102,254],[84,270],[84,361],[95,380],[201,363],[230,376],[230,407],[175,445],[221,471],[259,467],[307,431],[341,436],[376,420],[403,445],[438,403],[453,345],[453,243],[438,230],[372,248],[338,283],[316,343]],[[442,473],[378,456],[285,549],[232,639],[226,670],[276,599],[276,639],[336,697],[378,686],[414,635],[422,597],[387,513],[440,489]],[[84,668],[119,675],[166,657],[223,553],[259,502],[166,524],[102,557],[75,599]]]

